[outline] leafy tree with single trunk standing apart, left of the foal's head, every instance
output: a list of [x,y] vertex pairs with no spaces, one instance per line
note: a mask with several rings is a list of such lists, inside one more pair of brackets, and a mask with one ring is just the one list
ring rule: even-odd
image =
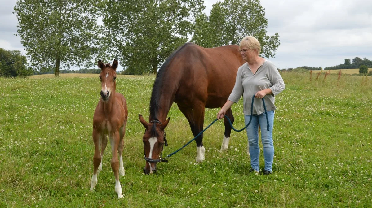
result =
[[96,0],[18,0],[17,34],[33,66],[91,65],[98,39]]

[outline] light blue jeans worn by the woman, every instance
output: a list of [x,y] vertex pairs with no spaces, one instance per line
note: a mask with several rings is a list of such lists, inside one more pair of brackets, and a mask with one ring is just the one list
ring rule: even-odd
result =
[[[244,115],[244,121],[247,125],[250,120],[250,115]],[[253,114],[251,124],[247,127],[247,136],[249,143],[249,154],[251,158],[251,167],[254,170],[260,170],[259,157],[260,147],[258,145],[258,126],[261,127],[261,140],[263,145],[263,157],[265,161],[265,170],[272,171],[274,159],[274,145],[273,145],[273,126],[274,126],[274,111],[267,111],[269,118],[269,131],[267,131],[267,121],[265,113]]]

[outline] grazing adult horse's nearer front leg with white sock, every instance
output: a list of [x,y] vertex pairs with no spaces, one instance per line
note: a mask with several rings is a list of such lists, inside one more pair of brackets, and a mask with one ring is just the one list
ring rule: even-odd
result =
[[[194,136],[203,131],[204,126],[204,105],[199,105],[194,110],[195,131]],[[203,146],[203,133],[195,139],[196,142],[196,162],[205,160],[205,147]]]

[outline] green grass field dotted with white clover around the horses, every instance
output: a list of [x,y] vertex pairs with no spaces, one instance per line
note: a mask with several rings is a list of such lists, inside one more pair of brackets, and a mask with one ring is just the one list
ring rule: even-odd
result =
[[[86,76],[0,78],[0,207],[371,207],[371,77],[323,74],[315,80],[313,74],[310,82],[308,73],[283,72],[271,175],[248,172],[244,131],[232,132],[230,148],[218,152],[219,121],[204,134],[205,162],[194,165],[191,143],[147,176],[138,114],[148,118],[154,77],[118,76],[117,91],[129,110],[124,199],[118,200],[109,146],[96,190],[89,191],[100,83],[98,75]],[[241,101],[233,105],[237,129],[244,126],[242,110]],[[205,126],[217,112],[206,110]],[[176,105],[169,116],[163,154],[193,137]]]

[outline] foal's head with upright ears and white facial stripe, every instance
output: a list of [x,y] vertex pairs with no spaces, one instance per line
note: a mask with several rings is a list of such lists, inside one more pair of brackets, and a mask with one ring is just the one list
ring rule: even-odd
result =
[[110,95],[116,90],[116,68],[118,68],[118,60],[114,60],[112,65],[103,64],[101,60],[98,61],[98,67],[101,69],[99,79],[101,81],[101,98],[103,101],[108,101]]

